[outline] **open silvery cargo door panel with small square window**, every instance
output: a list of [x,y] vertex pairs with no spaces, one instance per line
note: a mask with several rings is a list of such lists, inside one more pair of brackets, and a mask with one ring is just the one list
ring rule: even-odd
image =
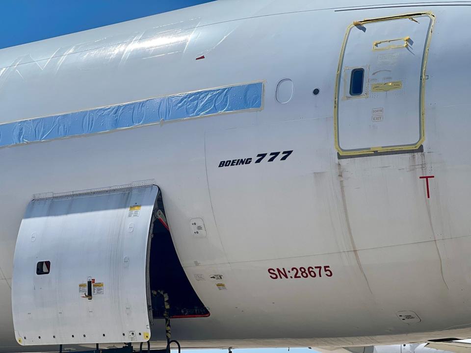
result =
[[12,280],[20,344],[150,339],[146,267],[157,193],[144,183],[29,203]]

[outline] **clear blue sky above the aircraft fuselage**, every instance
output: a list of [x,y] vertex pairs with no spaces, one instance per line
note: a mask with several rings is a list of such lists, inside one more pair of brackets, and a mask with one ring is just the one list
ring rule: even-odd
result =
[[0,49],[210,0],[2,0]]

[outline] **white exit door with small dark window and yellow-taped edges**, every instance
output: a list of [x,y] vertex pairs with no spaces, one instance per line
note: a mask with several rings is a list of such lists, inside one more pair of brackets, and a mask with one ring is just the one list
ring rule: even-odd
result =
[[335,99],[340,156],[416,151],[424,139],[428,13],[355,21],[340,54]]

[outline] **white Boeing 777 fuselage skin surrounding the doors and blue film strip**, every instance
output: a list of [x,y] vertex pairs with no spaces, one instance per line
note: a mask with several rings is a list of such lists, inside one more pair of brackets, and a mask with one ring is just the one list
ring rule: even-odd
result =
[[[314,11],[323,4],[222,1],[0,50],[2,123],[263,82],[256,111],[0,148],[2,310],[11,308],[15,242],[34,194],[153,179],[180,261],[210,312],[173,320],[186,347],[471,336],[471,157],[463,152],[471,3]],[[429,11],[436,23],[423,152],[339,159],[334,100],[346,28]],[[287,78],[292,97],[281,104],[276,87]],[[191,232],[195,218],[206,237]],[[0,351],[19,352],[7,309]],[[402,322],[404,311],[415,322]],[[159,322],[154,342],[164,341]]]

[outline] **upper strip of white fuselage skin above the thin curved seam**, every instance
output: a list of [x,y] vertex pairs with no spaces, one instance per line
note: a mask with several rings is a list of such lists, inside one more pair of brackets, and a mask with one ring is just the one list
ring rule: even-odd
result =
[[[456,1],[428,1],[430,4],[456,3]],[[385,1],[383,5],[394,6],[396,1]],[[11,59],[29,55],[24,62],[48,60],[52,56],[66,53],[93,50],[130,41],[151,38],[172,30],[191,30],[220,23],[228,23],[248,18],[258,18],[279,14],[294,14],[306,11],[356,9],[362,7],[377,7],[378,1],[364,0],[353,4],[348,0],[340,0],[335,5],[322,0],[295,0],[290,3],[276,0],[246,0],[217,1],[209,4],[192,6],[190,9],[180,9],[158,15],[135,19],[115,25],[107,25],[77,33],[28,43],[20,46],[2,49],[0,52],[0,67],[12,65]],[[39,46],[38,46],[39,45]],[[60,50],[58,50],[60,49]]]

